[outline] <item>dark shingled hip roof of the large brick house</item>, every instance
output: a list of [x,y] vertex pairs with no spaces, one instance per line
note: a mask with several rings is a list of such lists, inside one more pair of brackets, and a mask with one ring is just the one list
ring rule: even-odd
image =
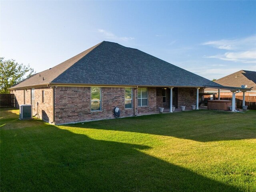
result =
[[222,87],[138,49],[106,41],[11,89],[44,84]]

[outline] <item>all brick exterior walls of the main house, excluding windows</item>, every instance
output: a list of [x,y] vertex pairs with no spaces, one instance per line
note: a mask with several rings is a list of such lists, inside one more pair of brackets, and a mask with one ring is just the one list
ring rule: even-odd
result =
[[[133,108],[125,109],[124,88],[101,88],[101,111],[91,111],[90,87],[57,87],[54,88],[54,117],[53,117],[53,89],[35,88],[35,105],[33,115],[50,123],[66,124],[114,118],[113,109],[120,108],[120,117],[135,114],[156,112],[158,107],[169,108],[170,89],[166,90],[166,103],[162,102],[162,88],[148,88],[148,106],[137,106],[137,89],[133,89]],[[44,102],[42,91],[44,90]],[[174,88],[176,94],[176,108],[182,105],[190,107],[196,104],[196,88]],[[204,92],[199,89],[199,92]],[[24,104],[24,90],[12,90],[19,105]],[[200,99],[200,98],[199,98]],[[25,90],[25,104],[31,104],[31,89]],[[37,103],[38,102],[38,106]],[[55,118],[55,119],[54,119]],[[54,122],[53,122],[54,119]]]

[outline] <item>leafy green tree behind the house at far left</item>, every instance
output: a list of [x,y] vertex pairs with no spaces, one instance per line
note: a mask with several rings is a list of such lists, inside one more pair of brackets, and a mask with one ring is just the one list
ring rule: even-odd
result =
[[18,64],[15,60],[0,58],[0,93],[10,93],[9,88],[18,82],[34,74],[34,69],[24,64]]

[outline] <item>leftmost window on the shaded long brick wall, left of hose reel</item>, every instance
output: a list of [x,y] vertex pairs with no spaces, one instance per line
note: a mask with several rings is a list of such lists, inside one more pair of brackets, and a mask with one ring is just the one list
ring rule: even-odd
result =
[[91,87],[91,111],[101,110],[101,88]]

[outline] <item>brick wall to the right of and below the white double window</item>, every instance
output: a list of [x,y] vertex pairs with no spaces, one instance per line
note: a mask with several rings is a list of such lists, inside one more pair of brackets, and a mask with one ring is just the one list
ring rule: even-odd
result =
[[154,87],[148,88],[148,106],[138,106],[138,114],[146,112],[156,112],[156,88]]

